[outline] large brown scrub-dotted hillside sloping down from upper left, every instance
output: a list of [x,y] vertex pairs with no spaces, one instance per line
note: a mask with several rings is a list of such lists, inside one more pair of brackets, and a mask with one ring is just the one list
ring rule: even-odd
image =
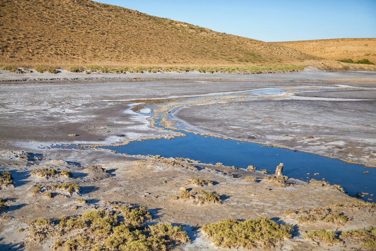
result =
[[0,3],[0,64],[250,66],[316,59],[279,44],[88,0]]

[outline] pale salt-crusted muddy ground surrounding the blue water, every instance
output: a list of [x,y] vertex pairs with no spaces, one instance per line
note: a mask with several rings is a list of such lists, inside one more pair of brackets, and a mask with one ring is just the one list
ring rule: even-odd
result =
[[[174,135],[173,132],[150,126],[150,115],[132,111],[132,107],[142,105],[144,99],[170,99],[169,106],[159,107],[161,111],[163,110],[162,118],[164,126],[167,127],[174,127],[175,122],[178,122],[183,123],[187,130],[196,133],[245,140],[252,140],[248,136],[257,136],[257,141],[273,144],[274,142],[267,142],[271,140],[266,136],[265,138],[258,136],[262,132],[264,135],[274,137],[279,145],[298,142],[298,147],[302,150],[312,149],[312,152],[318,154],[322,154],[320,151],[333,153],[333,156],[329,156],[331,158],[344,154],[344,152],[339,152],[340,150],[346,150],[354,155],[351,158],[353,161],[359,159],[359,162],[367,164],[374,151],[375,141],[374,135],[369,132],[374,130],[375,124],[371,121],[374,117],[374,109],[371,109],[374,107],[374,91],[372,90],[374,86],[370,83],[372,81],[376,83],[376,73],[306,71],[284,74],[259,74],[250,77],[247,75],[248,80],[240,80],[238,75],[229,75],[227,81],[220,81],[221,78],[227,77],[227,75],[221,75],[216,81],[138,82],[132,80],[0,84],[0,98],[2,99],[0,171],[9,171],[13,176],[13,184],[0,189],[0,197],[3,197],[8,205],[8,208],[0,215],[0,236],[2,237],[0,247],[50,250],[50,246],[56,241],[54,238],[33,242],[26,230],[19,231],[19,229],[27,228],[28,221],[36,217],[58,219],[62,214],[80,215],[89,210],[108,208],[113,202],[122,202],[147,207],[153,215],[152,223],[166,222],[182,226],[190,236],[191,242],[175,247],[176,250],[214,249],[211,240],[200,230],[203,223],[228,218],[255,219],[259,216],[296,226],[294,237],[276,243],[275,250],[281,248],[290,250],[360,248],[361,243],[355,240],[330,246],[325,243],[317,244],[303,237],[306,231],[311,230],[346,231],[376,225],[374,217],[376,211],[373,204],[366,204],[350,197],[339,188],[322,181],[312,181],[308,184],[290,181],[279,183],[265,178],[267,175],[261,175],[258,172],[237,170],[220,165],[192,164],[182,159],[127,156],[108,150],[49,148],[52,144],[108,145],[165,137],[165,135],[171,137]],[[212,75],[203,76],[204,78],[212,77]],[[368,83],[357,83],[356,80],[359,79],[364,79]],[[338,81],[345,81],[347,84],[341,85]],[[336,92],[320,92],[320,94],[306,92],[293,95],[294,92],[291,91],[296,88],[317,91],[323,86],[327,89],[335,89]],[[261,96],[259,93],[252,93],[256,98],[251,99],[239,94],[265,89],[283,89],[288,92],[283,95],[264,93]],[[221,99],[216,100],[217,96],[213,93],[216,93],[215,95],[221,93]],[[362,93],[367,93],[368,96]],[[359,95],[363,95],[366,100],[361,100]],[[196,99],[193,99],[192,102],[179,104],[173,100],[193,97],[202,98],[202,101],[196,102]],[[317,98],[324,100],[316,100]],[[343,101],[337,100],[341,98]],[[124,100],[134,102],[114,102]],[[301,105],[296,106],[290,103]],[[285,106],[280,106],[282,104]],[[332,106],[333,104],[335,106]],[[336,109],[317,109],[317,112],[312,112],[314,111],[312,107],[325,105],[336,107]],[[284,109],[278,110],[276,107],[284,107]],[[168,111],[176,108],[178,109],[174,110],[172,117],[168,116]],[[285,110],[285,108],[293,109]],[[338,113],[338,110],[349,112]],[[322,116],[307,120],[305,116],[294,115],[297,112],[304,115],[305,111],[312,116],[318,116],[320,111],[324,111],[322,112],[325,115],[324,120]],[[250,114],[256,114],[256,116]],[[304,136],[304,138],[313,135],[314,139],[307,141],[303,138],[280,137],[280,133],[286,134],[279,132],[284,131],[285,126],[288,126],[289,130],[293,130],[294,127],[291,127],[291,124],[282,123],[283,121],[280,122],[277,117],[279,114],[286,118],[284,121],[292,121],[299,130],[302,130],[300,135],[297,134],[298,131],[290,132],[291,135]],[[333,116],[334,114],[339,115]],[[261,117],[250,119],[257,116]],[[325,120],[326,116],[330,119]],[[266,122],[267,119],[274,120],[274,122]],[[218,120],[221,123],[218,123]],[[346,122],[344,124],[354,125],[346,127],[351,129],[344,131],[346,138],[342,141],[346,144],[339,145],[338,140],[334,141],[334,137],[341,135],[327,133],[329,129],[323,126],[324,123],[321,125],[320,123],[337,121],[338,124],[338,121],[343,120]],[[362,124],[369,124],[369,126],[356,126],[359,120],[362,120]],[[255,121],[260,124],[252,124]],[[309,121],[311,127],[305,124],[306,121]],[[218,126],[224,122],[232,127]],[[240,127],[241,125],[243,127]],[[342,127],[333,128],[342,130]],[[332,129],[334,132],[336,130]],[[320,139],[318,133],[325,135],[325,138],[330,141],[318,141]],[[364,140],[364,135],[371,138]],[[363,145],[359,145],[357,140],[362,141]],[[303,144],[303,142],[306,143]],[[338,145],[343,148],[335,148]],[[289,146],[298,148],[294,145]],[[319,147],[319,150],[315,147]],[[363,150],[359,151],[357,147]],[[71,171],[73,177],[43,178],[32,173],[37,168],[67,170]],[[246,176],[255,177],[256,180],[246,179]],[[209,179],[215,181],[215,185],[195,187],[188,182],[193,178]],[[53,191],[55,195],[51,198],[43,194],[30,193],[38,184],[42,187],[51,187],[54,184],[66,182],[78,185],[80,191],[67,193],[57,190]],[[197,204],[193,200],[174,199],[180,187],[192,189],[192,191],[203,189],[206,192],[220,194],[222,202]],[[88,202],[78,204],[79,199],[86,199]],[[287,210],[302,211],[312,208],[329,208],[325,210],[332,213],[338,211],[351,220],[340,226],[322,220],[308,224],[299,222],[298,215],[285,214]]]

